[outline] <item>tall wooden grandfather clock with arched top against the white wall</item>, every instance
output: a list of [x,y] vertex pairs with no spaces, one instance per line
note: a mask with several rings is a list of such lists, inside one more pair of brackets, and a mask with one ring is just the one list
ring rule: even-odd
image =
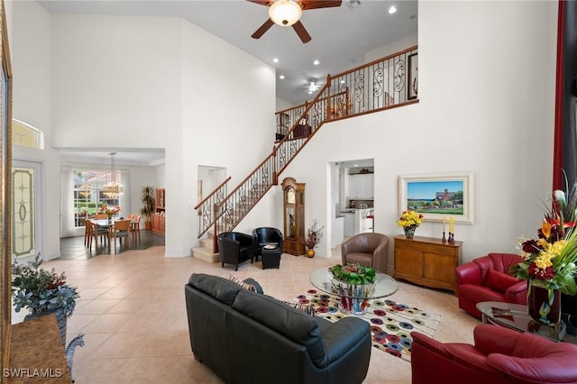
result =
[[305,254],[305,183],[294,178],[282,180],[284,239],[282,251],[291,255]]

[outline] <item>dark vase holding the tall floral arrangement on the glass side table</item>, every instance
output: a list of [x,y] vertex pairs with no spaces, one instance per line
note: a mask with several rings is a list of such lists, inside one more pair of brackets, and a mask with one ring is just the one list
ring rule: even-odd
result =
[[561,294],[557,289],[527,287],[529,316],[538,324],[559,325],[561,321]]

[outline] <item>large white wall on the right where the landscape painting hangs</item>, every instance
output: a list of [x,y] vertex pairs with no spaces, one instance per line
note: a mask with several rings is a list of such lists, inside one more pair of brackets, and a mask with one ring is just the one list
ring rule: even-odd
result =
[[[399,175],[472,171],[475,222],[455,225],[463,261],[516,252],[552,185],[556,13],[554,2],[419,3],[419,103],[323,126],[286,173],[307,183],[307,224],[330,223],[327,162],[374,159],[375,231],[390,237],[402,233]],[[353,145],[351,129],[366,141]],[[317,254],[330,254],[326,240]],[[389,265],[392,254],[391,242]]]

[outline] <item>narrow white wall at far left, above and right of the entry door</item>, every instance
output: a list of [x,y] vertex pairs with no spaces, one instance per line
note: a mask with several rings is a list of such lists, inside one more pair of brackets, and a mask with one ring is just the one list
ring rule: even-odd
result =
[[[50,14],[36,2],[8,2],[6,11],[13,70],[13,117],[44,133],[46,149],[13,147],[13,158],[41,164],[41,227],[38,249],[48,260],[60,255],[60,164],[52,140],[50,105]],[[55,202],[57,202],[55,204]]]

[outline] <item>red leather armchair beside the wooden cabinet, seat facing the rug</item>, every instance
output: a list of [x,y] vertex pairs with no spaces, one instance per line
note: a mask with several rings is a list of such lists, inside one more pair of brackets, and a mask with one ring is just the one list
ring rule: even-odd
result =
[[507,273],[520,261],[523,258],[514,253],[489,253],[455,268],[459,307],[481,318],[481,301],[527,304],[527,281]]

